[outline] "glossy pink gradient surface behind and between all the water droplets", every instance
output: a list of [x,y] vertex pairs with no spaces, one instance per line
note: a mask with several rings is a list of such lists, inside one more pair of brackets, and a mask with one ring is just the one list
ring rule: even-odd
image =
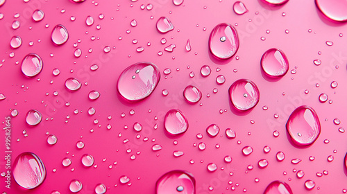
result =
[[[95,2],[99,5],[95,6]],[[4,14],[0,20],[0,93],[6,96],[6,100],[0,101],[1,123],[10,115],[11,109],[19,111],[18,116],[11,118],[12,162],[22,152],[34,152],[42,159],[47,170],[43,184],[30,191],[18,186],[13,177],[9,190],[4,187],[5,178],[0,177],[1,193],[51,193],[53,190],[69,193],[71,179],[79,179],[83,183],[80,193],[94,193],[94,187],[99,183],[108,187],[107,193],[155,193],[156,180],[176,169],[187,170],[194,175],[196,193],[244,193],[244,188],[246,193],[262,193],[274,180],[287,182],[294,193],[342,193],[347,188],[344,173],[347,134],[338,131],[339,127],[345,127],[346,122],[347,34],[339,37],[339,33],[346,32],[346,24],[336,24],[325,19],[312,0],[291,0],[280,7],[269,7],[262,1],[245,0],[243,2],[249,12],[244,15],[236,15],[232,11],[235,1],[227,0],[186,0],[181,6],[174,6],[171,0],[95,2],[31,0],[24,3],[22,0],[7,0],[0,8]],[[147,3],[153,4],[153,10],[140,9],[142,4]],[[42,21],[34,22],[31,19],[31,13],[36,8],[45,13]],[[62,13],[61,10],[66,11]],[[282,12],[286,15],[282,16]],[[10,26],[16,13],[20,14],[18,20],[21,26],[13,30]],[[101,13],[105,15],[104,19],[99,19]],[[92,26],[85,24],[88,15],[94,17]],[[76,20],[71,21],[71,16],[76,17]],[[158,32],[155,23],[162,16],[171,20],[174,30],[166,34]],[[130,26],[132,19],[137,20],[136,27]],[[236,54],[239,60],[235,59],[235,55],[231,60],[218,61],[209,53],[208,37],[212,28],[221,22],[238,24],[235,28],[240,38]],[[46,24],[49,24],[48,28]],[[69,39],[62,46],[55,46],[51,42],[51,30],[57,24],[62,24],[69,32]],[[100,30],[96,29],[98,24],[101,25]],[[285,33],[286,29],[289,30],[288,34]],[[309,29],[312,29],[312,33]],[[126,33],[126,30],[131,32]],[[267,34],[266,30],[271,33]],[[22,37],[20,48],[10,48],[9,42],[13,35]],[[92,36],[100,39],[92,41]],[[119,37],[122,39],[119,40]],[[163,37],[167,39],[164,45],[160,43]],[[266,37],[266,40],[262,41],[261,37]],[[81,39],[81,43],[78,43],[77,48],[81,48],[82,55],[75,58],[76,48],[73,44],[78,39]],[[137,39],[138,43],[133,44],[133,39]],[[190,39],[192,45],[190,52],[185,51],[187,39]],[[29,46],[31,41],[33,46]],[[334,45],[328,46],[326,41],[332,41]],[[151,46],[147,46],[147,42],[151,42]],[[177,45],[172,53],[164,51],[164,47],[169,44]],[[115,49],[104,53],[105,46],[115,46]],[[144,46],[142,53],[136,52],[138,46]],[[273,47],[281,49],[289,60],[287,75],[276,81],[265,78],[260,67],[262,54]],[[88,52],[90,48],[92,53]],[[158,51],[164,54],[159,56]],[[10,58],[11,52],[15,53],[15,57]],[[42,72],[35,78],[26,78],[21,72],[20,62],[28,53],[37,53],[44,62]],[[322,61],[320,66],[314,65],[313,60],[316,59]],[[19,64],[16,64],[17,61]],[[162,78],[149,98],[130,104],[117,94],[117,79],[126,67],[142,61],[156,64]],[[98,64],[99,69],[90,71],[92,64]],[[200,75],[200,68],[204,64],[212,69],[207,78]],[[187,69],[187,66],[190,68]],[[294,67],[297,67],[296,74],[291,74]],[[55,68],[60,69],[59,76],[53,76]],[[167,78],[162,73],[166,68],[172,71]],[[179,71],[176,71],[177,68]],[[217,68],[221,71],[217,72]],[[233,72],[234,69],[237,69],[237,73]],[[189,78],[191,71],[195,73],[194,78]],[[217,85],[215,80],[220,74],[226,77],[223,85]],[[316,76],[318,74],[321,78]],[[70,77],[83,82],[80,90],[67,91],[64,83]],[[228,97],[228,88],[232,82],[241,78],[252,80],[260,89],[260,102],[251,112],[243,115],[230,109]],[[336,89],[330,87],[332,81],[338,82]],[[316,87],[316,83],[319,83],[319,87]],[[194,85],[202,91],[203,98],[199,102],[203,103],[202,106],[185,102],[183,90],[187,85]],[[213,93],[214,88],[218,89],[217,94]],[[169,91],[168,96],[161,94],[163,89]],[[310,91],[309,94],[304,93],[305,89]],[[101,97],[89,100],[88,93],[91,90],[99,91]],[[59,95],[54,96],[54,91],[58,91]],[[333,103],[319,103],[321,93],[328,94]],[[210,98],[207,94],[211,95]],[[65,106],[66,102],[71,105]],[[263,110],[264,105],[269,109]],[[321,134],[308,148],[291,145],[285,130],[289,114],[300,105],[313,107],[321,121]],[[96,114],[89,116],[89,107],[94,107]],[[189,121],[187,132],[174,138],[167,136],[163,127],[164,114],[173,108],[180,109]],[[25,123],[29,109],[37,109],[42,113],[43,120],[35,127]],[[74,114],[75,109],[80,112]],[[130,109],[135,110],[134,115],[129,114]],[[227,112],[220,114],[220,109],[227,109]],[[122,112],[126,113],[124,118],[121,118]],[[274,118],[274,114],[280,117]],[[112,116],[111,120],[108,120],[109,115]],[[158,120],[155,120],[155,116],[158,116]],[[341,124],[335,125],[332,122],[334,118],[339,118]],[[94,119],[98,119],[99,123],[94,124]],[[251,124],[251,120],[255,123]],[[133,130],[135,122],[142,123],[142,132]],[[157,130],[153,129],[155,123],[158,123]],[[210,138],[205,132],[212,123],[221,128],[215,138]],[[112,125],[111,130],[107,130],[108,124]],[[127,130],[124,125],[128,126]],[[2,126],[5,126],[4,123]],[[228,127],[237,132],[236,139],[226,138],[225,130]],[[94,132],[90,132],[91,129]],[[26,130],[27,137],[24,137],[23,130]],[[274,137],[274,130],[278,130],[280,136]],[[1,155],[4,154],[4,132],[1,130]],[[48,145],[46,132],[58,137],[56,145]],[[203,139],[196,138],[198,133],[203,134]],[[141,134],[140,139],[135,137],[137,134]],[[149,141],[143,141],[144,137],[148,137]],[[17,142],[17,139],[20,141]],[[123,143],[124,139],[130,141]],[[329,139],[330,143],[324,143],[324,139]],[[81,150],[76,148],[79,140],[85,143],[85,148]],[[174,145],[174,140],[178,141],[177,145]],[[238,144],[237,141],[242,143]],[[203,151],[193,145],[200,142],[207,145]],[[220,145],[218,149],[215,147],[217,143]],[[162,150],[153,152],[153,144],[162,145]],[[241,151],[246,145],[252,146],[254,150],[247,157]],[[264,153],[265,145],[271,147],[271,152]],[[130,154],[126,152],[128,148],[132,150]],[[185,155],[176,158],[173,156],[174,150],[183,151]],[[333,150],[337,150],[337,153]],[[139,155],[136,154],[138,151],[141,152]],[[276,161],[278,151],[285,152],[286,157],[282,162]],[[86,153],[94,157],[97,168],[82,166],[81,156]],[[136,159],[130,160],[130,155],[136,155]],[[223,161],[226,155],[232,157],[230,164]],[[316,157],[314,161],[309,160],[311,155]],[[329,155],[335,157],[334,161],[327,161]],[[72,159],[71,166],[62,166],[64,157]],[[301,163],[291,164],[291,159],[296,158],[302,159]],[[194,164],[189,163],[191,159]],[[257,161],[260,159],[267,159],[269,166],[258,168]],[[117,165],[113,164],[115,161]],[[214,173],[208,172],[206,167],[211,162],[218,166]],[[4,161],[1,161],[1,172],[5,171],[3,164]],[[108,168],[111,164],[112,169]],[[245,173],[249,164],[254,168]],[[71,168],[75,170],[72,172]],[[305,176],[298,179],[293,172],[294,168],[303,170]],[[56,169],[55,173],[53,169]],[[323,173],[323,170],[328,170],[329,174],[317,177],[316,173]],[[284,171],[287,175],[284,175]],[[228,175],[230,172],[232,176]],[[121,175],[130,177],[130,186],[119,182]],[[255,182],[256,177],[260,182]],[[316,182],[312,191],[305,189],[307,179]],[[232,181],[231,185],[228,184],[229,180]],[[235,184],[239,186],[231,191],[230,187]],[[209,186],[213,186],[214,190],[208,191]]]

